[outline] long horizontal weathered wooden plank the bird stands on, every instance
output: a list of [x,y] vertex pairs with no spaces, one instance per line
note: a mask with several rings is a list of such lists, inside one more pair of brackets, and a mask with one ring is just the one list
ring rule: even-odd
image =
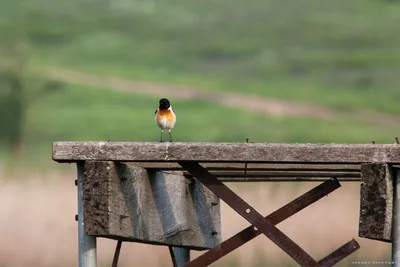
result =
[[399,145],[55,142],[53,159],[112,161],[197,161],[274,163],[400,163]]

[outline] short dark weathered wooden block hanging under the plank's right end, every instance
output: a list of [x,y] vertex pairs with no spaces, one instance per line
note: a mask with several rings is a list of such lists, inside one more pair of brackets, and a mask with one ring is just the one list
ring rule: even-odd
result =
[[393,217],[393,174],[385,163],[361,165],[359,236],[390,242]]

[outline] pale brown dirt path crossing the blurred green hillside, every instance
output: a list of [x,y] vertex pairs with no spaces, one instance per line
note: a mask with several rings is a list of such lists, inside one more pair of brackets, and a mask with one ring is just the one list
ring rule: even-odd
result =
[[218,103],[228,107],[236,107],[262,114],[278,116],[308,117],[330,120],[338,116],[346,116],[379,125],[399,125],[400,117],[374,111],[342,112],[326,107],[282,101],[250,94],[234,92],[207,92],[186,86],[166,85],[151,82],[137,82],[112,76],[100,76],[80,73],[65,69],[43,69],[40,74],[48,78],[71,84],[106,86],[108,88],[135,92],[154,96],[168,95],[174,99],[199,99]]

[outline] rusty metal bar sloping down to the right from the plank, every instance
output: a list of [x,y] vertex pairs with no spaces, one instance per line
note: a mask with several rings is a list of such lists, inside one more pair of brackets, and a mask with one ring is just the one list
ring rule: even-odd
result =
[[[254,225],[254,227],[257,227],[266,237],[271,239],[272,242],[285,251],[300,266],[319,266],[319,264],[309,254],[307,254],[307,252],[276,228],[270,220],[265,219],[235,192],[200,166],[200,164],[189,161],[179,162],[179,164],[210,189],[210,191],[233,208],[238,214]],[[256,229],[254,228],[254,230]]]

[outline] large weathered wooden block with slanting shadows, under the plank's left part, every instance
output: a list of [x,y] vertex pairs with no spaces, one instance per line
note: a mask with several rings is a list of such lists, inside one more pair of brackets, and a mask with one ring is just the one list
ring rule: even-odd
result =
[[181,172],[87,161],[83,204],[88,235],[199,250],[221,242],[219,199]]

